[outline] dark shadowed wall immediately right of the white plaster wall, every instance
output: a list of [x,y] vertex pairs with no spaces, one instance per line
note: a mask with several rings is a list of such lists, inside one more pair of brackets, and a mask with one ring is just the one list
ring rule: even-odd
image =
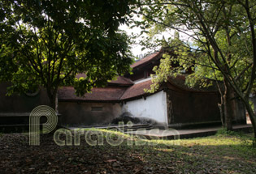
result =
[[220,121],[216,93],[167,91],[169,124]]

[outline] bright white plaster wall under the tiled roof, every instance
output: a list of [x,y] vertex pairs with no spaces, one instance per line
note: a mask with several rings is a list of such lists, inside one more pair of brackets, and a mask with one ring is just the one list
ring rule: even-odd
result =
[[134,117],[146,117],[167,125],[167,94],[158,91],[146,97],[146,100],[132,100],[123,105],[122,112],[130,112]]

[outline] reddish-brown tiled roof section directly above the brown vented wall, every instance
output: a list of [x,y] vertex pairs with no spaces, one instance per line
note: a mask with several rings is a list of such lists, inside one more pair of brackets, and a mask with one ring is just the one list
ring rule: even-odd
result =
[[58,91],[59,100],[86,100],[86,101],[118,101],[124,94],[124,87],[98,87],[84,96],[76,96],[73,87],[61,87]]

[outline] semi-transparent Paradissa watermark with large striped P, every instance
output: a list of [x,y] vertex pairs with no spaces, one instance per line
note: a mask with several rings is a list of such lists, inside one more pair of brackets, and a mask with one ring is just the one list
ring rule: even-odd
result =
[[[46,123],[42,124],[42,130],[40,130],[41,117],[47,118]],[[29,145],[39,146],[40,134],[49,134],[52,131],[54,131],[54,142],[59,146],[80,146],[82,135],[85,136],[85,142],[90,146],[103,146],[104,142],[111,146],[119,146],[124,140],[126,140],[128,146],[154,146],[158,143],[167,145],[180,144],[179,141],[165,141],[168,138],[173,140],[180,139],[180,134],[176,129],[136,129],[134,131],[131,121],[126,125],[124,125],[124,122],[119,122],[119,125],[114,129],[115,131],[94,128],[56,129],[57,125],[58,116],[53,108],[46,105],[34,108],[29,116]],[[65,139],[60,138],[61,135],[64,135]],[[104,141],[104,138],[106,141]]]

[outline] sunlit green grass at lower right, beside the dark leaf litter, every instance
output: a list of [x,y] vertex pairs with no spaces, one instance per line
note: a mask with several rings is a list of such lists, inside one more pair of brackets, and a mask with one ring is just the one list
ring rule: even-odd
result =
[[[111,130],[103,131],[128,136]],[[135,146],[138,141],[143,146]],[[206,138],[150,141],[133,138],[133,146],[128,146],[127,142],[121,146],[128,151],[136,151],[145,163],[159,163],[166,172],[247,174],[256,173],[256,149],[252,142],[253,134],[220,130],[215,136]]]

